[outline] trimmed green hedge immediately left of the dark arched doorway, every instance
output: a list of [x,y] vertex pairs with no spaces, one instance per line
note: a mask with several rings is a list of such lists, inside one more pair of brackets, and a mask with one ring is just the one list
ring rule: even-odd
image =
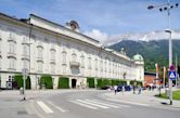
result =
[[59,89],[68,89],[69,88],[69,79],[67,77],[59,78]]

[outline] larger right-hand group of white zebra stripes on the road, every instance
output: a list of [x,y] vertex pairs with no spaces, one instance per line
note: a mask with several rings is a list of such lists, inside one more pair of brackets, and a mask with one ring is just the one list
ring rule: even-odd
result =
[[115,103],[108,103],[100,100],[74,100],[69,101],[70,103],[74,103],[76,105],[91,108],[91,109],[108,109],[108,108],[127,108],[130,107],[128,105],[121,105],[121,104],[115,104]]

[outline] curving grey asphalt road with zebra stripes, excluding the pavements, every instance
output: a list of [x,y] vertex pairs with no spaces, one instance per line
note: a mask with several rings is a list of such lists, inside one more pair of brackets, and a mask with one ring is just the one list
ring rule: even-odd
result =
[[[180,110],[107,101],[105,91],[68,91],[28,103],[40,118],[180,118]],[[30,106],[30,107],[29,107]]]

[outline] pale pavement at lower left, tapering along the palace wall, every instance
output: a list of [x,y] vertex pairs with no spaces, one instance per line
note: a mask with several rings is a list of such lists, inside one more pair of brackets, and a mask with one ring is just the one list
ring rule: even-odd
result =
[[[68,90],[66,90],[68,91]],[[39,118],[34,109],[33,102],[49,95],[66,92],[64,90],[27,90],[26,101],[18,90],[0,91],[1,118]]]

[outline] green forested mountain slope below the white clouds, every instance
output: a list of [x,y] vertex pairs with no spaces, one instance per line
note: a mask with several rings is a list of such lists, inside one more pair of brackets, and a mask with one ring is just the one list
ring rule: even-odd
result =
[[[145,69],[153,70],[155,69],[155,63],[158,63],[159,67],[164,65],[168,67],[168,40],[121,40],[115,44],[110,45],[108,48],[116,51],[120,51],[121,48],[125,49],[128,56],[132,57],[134,54],[139,53],[144,57]],[[173,53],[173,64],[176,54],[180,57],[180,39],[172,41],[172,53]],[[180,58],[178,60],[180,64]]]

